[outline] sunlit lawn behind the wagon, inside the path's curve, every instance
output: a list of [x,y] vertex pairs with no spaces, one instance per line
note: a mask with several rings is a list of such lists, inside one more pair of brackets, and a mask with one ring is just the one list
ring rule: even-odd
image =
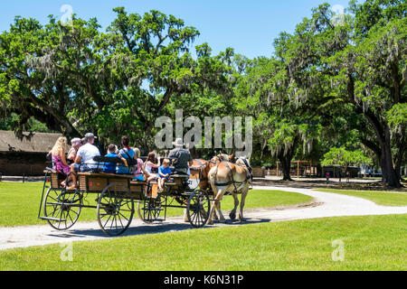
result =
[[[43,182],[0,182],[0,227],[47,224],[38,219]],[[96,194],[88,194],[85,204],[96,205]],[[239,197],[240,199],[240,197]],[[276,207],[307,203],[312,198],[296,192],[288,191],[250,191],[246,199],[245,208]],[[222,200],[223,214],[229,214],[233,208],[232,196]],[[137,210],[137,204],[135,203]],[[183,209],[169,208],[167,216],[181,216]],[[135,218],[137,213],[135,214]],[[83,209],[79,221],[96,221],[95,209]]]

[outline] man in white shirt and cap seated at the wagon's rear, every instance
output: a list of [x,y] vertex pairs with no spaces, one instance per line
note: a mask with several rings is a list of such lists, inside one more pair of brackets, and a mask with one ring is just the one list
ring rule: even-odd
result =
[[95,135],[88,133],[85,135],[86,144],[80,146],[76,154],[75,163],[71,164],[71,174],[73,185],[68,190],[75,190],[78,188],[76,172],[90,172],[97,168],[97,164],[93,161],[95,156],[99,156],[99,149],[93,145]]

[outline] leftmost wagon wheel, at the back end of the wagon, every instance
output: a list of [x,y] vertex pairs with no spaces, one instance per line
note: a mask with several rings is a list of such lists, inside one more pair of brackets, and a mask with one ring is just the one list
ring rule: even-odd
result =
[[43,214],[56,229],[71,228],[80,216],[82,195],[79,191],[48,189],[43,202]]

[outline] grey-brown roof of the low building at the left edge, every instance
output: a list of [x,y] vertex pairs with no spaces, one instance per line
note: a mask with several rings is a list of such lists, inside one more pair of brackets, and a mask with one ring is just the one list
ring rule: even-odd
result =
[[[30,133],[24,133],[29,135]],[[30,140],[15,137],[14,132],[0,130],[0,152],[48,153],[61,134],[33,133]]]

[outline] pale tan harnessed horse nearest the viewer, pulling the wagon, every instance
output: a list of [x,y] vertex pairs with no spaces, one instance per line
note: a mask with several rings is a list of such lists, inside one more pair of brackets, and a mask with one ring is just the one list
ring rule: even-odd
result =
[[[231,158],[232,159],[232,158]],[[244,221],[243,208],[247,193],[251,187],[251,166],[250,161],[245,157],[240,157],[236,163],[221,161],[217,163],[209,172],[209,181],[213,190],[214,204],[207,221],[208,225],[213,224],[212,216],[215,208],[219,212],[220,220],[225,222],[220,208],[220,202],[226,192],[231,192],[234,199],[234,209],[229,214],[231,219],[236,218],[236,210],[239,206],[237,194],[241,194],[241,210],[239,214],[240,221]]]

